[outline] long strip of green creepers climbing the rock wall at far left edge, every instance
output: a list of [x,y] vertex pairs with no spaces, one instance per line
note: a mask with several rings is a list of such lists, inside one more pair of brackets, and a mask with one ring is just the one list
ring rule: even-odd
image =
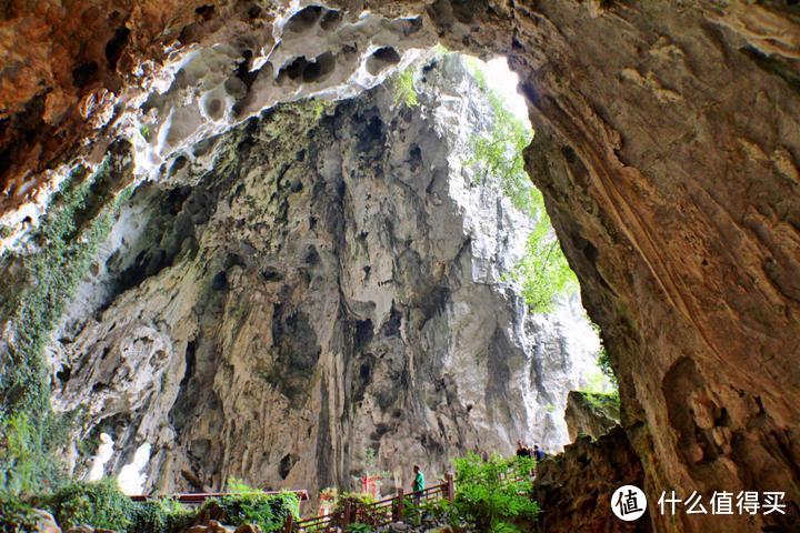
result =
[[8,356],[0,362],[0,442],[17,442],[28,457],[20,460],[13,447],[0,447],[0,476],[12,491],[41,491],[62,481],[58,462],[49,456],[66,438],[70,416],[50,410],[42,350],[130,194],[124,191],[107,205],[98,190],[102,188],[94,185],[103,184],[108,173],[103,163],[87,179],[74,172],[62,183],[34,235],[39,250],[19,261],[14,282],[0,290],[0,322],[8,322],[12,332]]

